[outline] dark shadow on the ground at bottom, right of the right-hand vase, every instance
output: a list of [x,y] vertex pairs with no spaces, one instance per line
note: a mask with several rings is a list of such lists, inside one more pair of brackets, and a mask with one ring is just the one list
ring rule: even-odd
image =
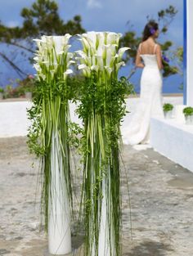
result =
[[150,240],[136,245],[130,253],[125,253],[123,256],[165,256],[168,251],[173,251],[170,245]]

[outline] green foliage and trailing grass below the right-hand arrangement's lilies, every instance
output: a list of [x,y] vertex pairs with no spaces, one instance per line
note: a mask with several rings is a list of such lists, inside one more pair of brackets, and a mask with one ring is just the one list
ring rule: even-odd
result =
[[[110,209],[113,209],[108,212],[108,222],[110,227],[115,227],[115,249],[116,255],[119,255],[119,125],[126,112],[124,97],[132,92],[132,85],[123,77],[119,81],[111,79],[110,83],[99,83],[99,77],[92,71],[91,78],[85,79],[80,90],[81,103],[77,112],[84,124],[80,153],[84,163],[85,255],[91,255],[92,244],[97,244],[100,221],[96,220],[101,218],[99,209],[104,196],[102,183],[104,180],[107,182],[108,178],[110,192],[107,194],[110,193],[110,202],[105,204],[110,204]],[[97,248],[94,254],[98,255]]]

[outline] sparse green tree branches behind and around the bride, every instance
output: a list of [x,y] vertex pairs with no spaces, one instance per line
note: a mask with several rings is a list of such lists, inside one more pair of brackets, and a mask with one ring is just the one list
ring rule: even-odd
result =
[[[165,10],[161,10],[157,13],[156,20],[159,24],[160,34],[166,34],[167,33],[168,27],[171,24],[171,22],[173,21],[176,14],[177,14],[177,10],[173,6],[169,6]],[[147,21],[150,20],[150,16],[147,16],[146,18],[147,18]],[[123,46],[131,47],[131,50],[129,52],[126,52],[124,61],[126,61],[131,66],[134,65],[135,57],[136,57],[136,54],[137,54],[137,47],[138,47],[139,43],[141,43],[141,40],[142,40],[142,36],[137,37],[136,32],[133,31],[132,28],[129,31],[127,31],[125,34],[123,34],[123,38],[121,40],[121,46],[122,47]],[[166,41],[166,42],[161,44],[162,51],[163,51],[163,54],[165,56],[168,56],[168,55],[171,56],[170,49],[171,49],[172,46],[173,46],[172,41]],[[136,69],[133,68],[131,70],[130,74],[129,74],[129,78],[135,72],[136,72]],[[163,73],[164,77],[168,77],[169,75],[177,74],[179,72],[180,72],[180,70],[179,70],[177,65],[170,65],[170,64],[164,65],[164,73]]]

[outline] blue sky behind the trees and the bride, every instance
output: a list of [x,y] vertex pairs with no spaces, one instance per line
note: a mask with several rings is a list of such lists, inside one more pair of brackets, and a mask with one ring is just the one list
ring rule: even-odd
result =
[[[0,0],[0,20],[2,24],[9,26],[20,25],[22,19],[20,10],[30,7],[34,0]],[[177,8],[177,16],[169,26],[168,33],[159,38],[159,42],[172,40],[174,46],[183,44],[183,0],[58,0],[59,11],[62,19],[70,20],[79,14],[82,16],[83,27],[87,30],[114,31],[124,33],[128,30],[127,22],[133,25],[132,29],[141,35],[146,25],[146,16],[156,18],[160,9],[173,5]],[[0,47],[0,51],[2,47]],[[1,81],[5,81],[10,75],[7,66],[3,66],[0,60],[0,68],[3,70]],[[127,75],[127,68],[122,70]],[[132,78],[132,82],[138,87],[140,71]],[[177,92],[179,77],[173,76],[164,81],[164,92]],[[171,85],[173,84],[173,85]]]

